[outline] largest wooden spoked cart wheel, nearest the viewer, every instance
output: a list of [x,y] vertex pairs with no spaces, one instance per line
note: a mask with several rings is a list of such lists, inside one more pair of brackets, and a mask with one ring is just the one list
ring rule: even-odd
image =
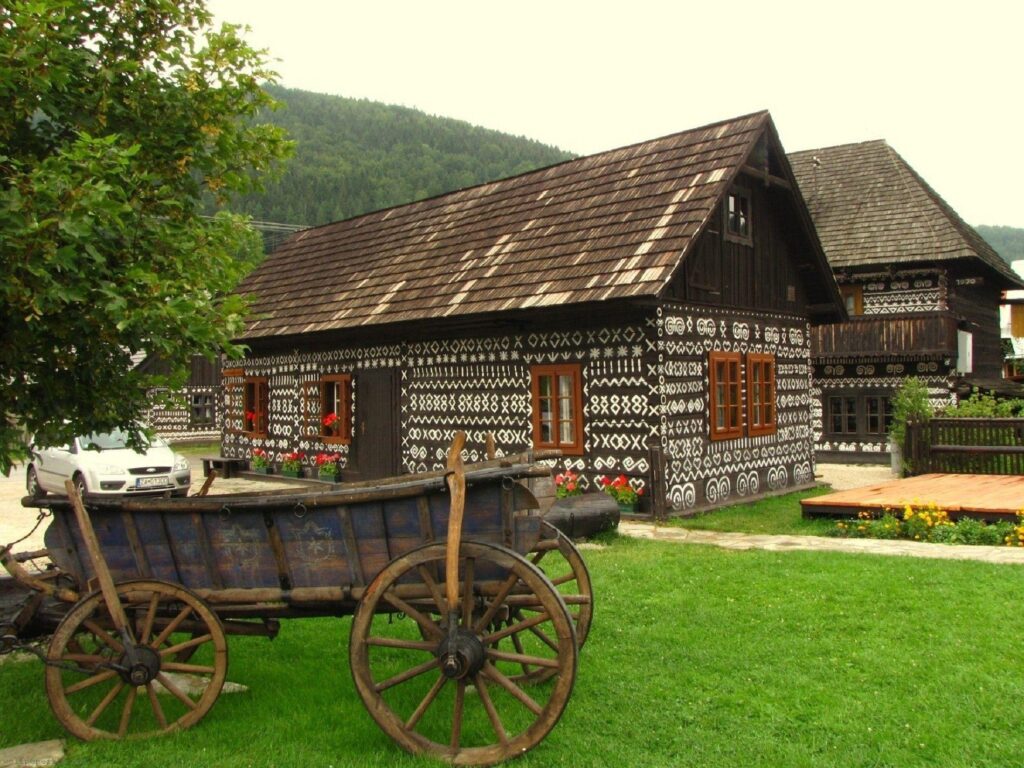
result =
[[[450,630],[445,551],[444,544],[414,550],[367,588],[352,620],[352,677],[371,716],[403,749],[457,765],[492,765],[536,746],[558,722],[575,679],[572,621],[557,589],[528,560],[504,547],[462,542]],[[508,626],[520,602],[536,606],[534,615]],[[394,621],[394,613],[409,621]],[[516,633],[528,634],[521,651],[496,647]],[[554,674],[526,691],[511,679],[523,664]]]

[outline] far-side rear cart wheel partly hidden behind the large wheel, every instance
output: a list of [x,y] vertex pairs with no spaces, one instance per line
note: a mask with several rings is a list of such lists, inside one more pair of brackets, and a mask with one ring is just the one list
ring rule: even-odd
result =
[[[584,562],[580,550],[572,544],[571,539],[551,523],[542,520],[541,538],[528,557],[530,562],[544,571],[562,596],[575,629],[577,648],[582,648],[587,640],[591,620],[594,615],[594,597],[590,585],[590,571],[587,570],[587,564]],[[521,654],[524,643],[529,641],[534,632],[528,620],[542,608],[524,596],[516,596],[512,600],[515,604],[505,620],[504,626],[515,628],[525,625],[526,629],[513,632],[502,638],[498,647]],[[522,664],[518,672],[509,677],[515,682],[540,683],[553,674],[554,671],[550,668]]]

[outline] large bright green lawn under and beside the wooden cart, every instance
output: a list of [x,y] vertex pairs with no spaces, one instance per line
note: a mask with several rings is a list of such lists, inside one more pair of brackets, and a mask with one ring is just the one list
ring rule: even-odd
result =
[[[613,539],[575,689],[520,766],[1020,765],[1016,566]],[[68,740],[61,766],[420,766],[364,711],[349,620],[230,639],[197,727]],[[0,667],[0,746],[63,737],[36,662]]]

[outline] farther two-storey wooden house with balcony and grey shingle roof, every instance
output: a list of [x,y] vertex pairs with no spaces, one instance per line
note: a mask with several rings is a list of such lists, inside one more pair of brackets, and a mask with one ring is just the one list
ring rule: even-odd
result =
[[790,162],[850,315],[811,335],[818,458],[888,461],[904,378],[936,406],[999,378],[999,298],[1022,283],[885,141]]

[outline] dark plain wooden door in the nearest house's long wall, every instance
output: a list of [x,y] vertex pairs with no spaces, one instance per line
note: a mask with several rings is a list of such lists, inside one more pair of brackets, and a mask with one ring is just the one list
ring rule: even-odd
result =
[[398,372],[355,373],[352,447],[345,479],[373,480],[398,474]]

